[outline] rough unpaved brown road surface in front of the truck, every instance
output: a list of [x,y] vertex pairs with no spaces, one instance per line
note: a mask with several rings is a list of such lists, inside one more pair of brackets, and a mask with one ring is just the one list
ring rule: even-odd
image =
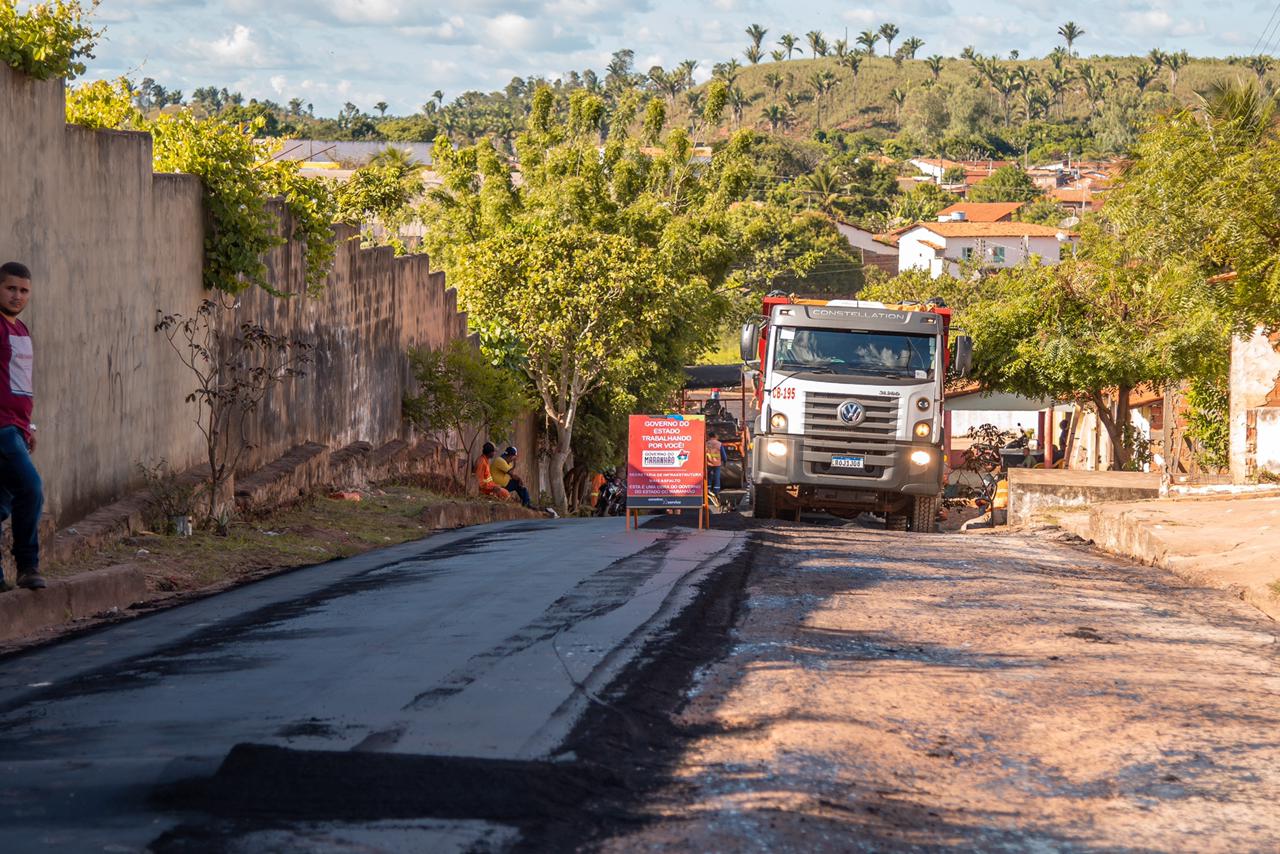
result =
[[1276,624],[1030,536],[771,524],[607,851],[1280,849]]

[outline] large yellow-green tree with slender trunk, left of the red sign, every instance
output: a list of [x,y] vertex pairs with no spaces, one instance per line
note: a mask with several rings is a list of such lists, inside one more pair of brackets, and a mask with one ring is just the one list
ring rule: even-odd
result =
[[623,123],[602,152],[604,104],[586,92],[571,95],[564,119],[548,87],[532,105],[518,183],[490,146],[436,145],[444,187],[426,241],[490,356],[529,376],[553,430],[552,495],[566,510],[586,399],[641,373],[675,388],[714,335],[739,246],[726,209],[753,170],[732,142],[710,169],[695,168],[681,131],[649,157]]

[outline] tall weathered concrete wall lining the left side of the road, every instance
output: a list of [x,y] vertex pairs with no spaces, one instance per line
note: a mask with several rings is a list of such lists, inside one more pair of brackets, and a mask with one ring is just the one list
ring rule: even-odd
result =
[[[252,291],[239,301],[241,318],[317,344],[308,375],[262,407],[250,466],[308,440],[398,437],[404,348],[466,334],[425,256],[338,237],[320,298]],[[23,320],[36,344],[35,460],[60,524],[133,488],[138,462],[201,461],[196,410],[183,402],[192,382],[154,323],[206,296],[202,242],[200,183],[152,174],[148,134],[69,127],[60,81],[0,65],[0,260],[33,270]],[[300,247],[268,262],[278,289],[302,293]]]

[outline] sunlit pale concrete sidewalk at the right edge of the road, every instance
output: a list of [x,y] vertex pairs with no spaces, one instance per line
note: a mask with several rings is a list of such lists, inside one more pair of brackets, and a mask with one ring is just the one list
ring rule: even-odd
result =
[[1280,620],[1280,497],[1197,495],[1096,504],[1053,520],[1115,554],[1231,590]]

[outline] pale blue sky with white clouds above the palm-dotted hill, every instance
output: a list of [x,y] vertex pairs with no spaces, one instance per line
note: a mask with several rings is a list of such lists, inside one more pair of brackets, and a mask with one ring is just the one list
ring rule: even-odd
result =
[[[1280,28],[1276,0],[102,0],[106,35],[90,77],[154,77],[188,92],[225,86],[250,97],[301,97],[317,113],[344,101],[412,113],[431,91],[448,99],[494,90],[513,76],[600,69],[620,47],[636,67],[741,60],[742,29],[758,22],[772,47],[785,32],[829,38],[892,20],[919,36],[922,56],[1043,55],[1071,19],[1083,54],[1249,54]],[[1263,36],[1267,36],[1263,38]],[[1280,33],[1272,50],[1280,52]]]

